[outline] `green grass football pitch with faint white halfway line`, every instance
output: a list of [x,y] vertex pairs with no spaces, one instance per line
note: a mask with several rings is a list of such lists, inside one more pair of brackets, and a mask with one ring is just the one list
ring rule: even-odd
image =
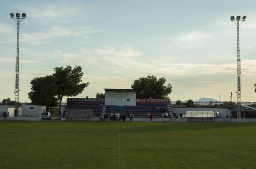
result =
[[256,124],[0,121],[1,169],[255,169]]

